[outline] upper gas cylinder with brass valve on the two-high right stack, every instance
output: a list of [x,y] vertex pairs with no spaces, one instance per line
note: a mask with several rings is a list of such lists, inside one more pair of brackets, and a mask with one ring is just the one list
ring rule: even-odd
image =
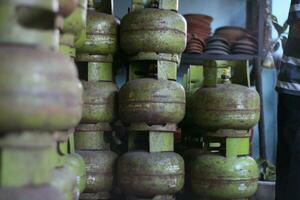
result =
[[229,74],[224,74],[223,83],[217,84],[216,69],[214,62],[204,66],[205,86],[194,96],[194,122],[206,130],[252,128],[259,120],[259,94],[231,84]]

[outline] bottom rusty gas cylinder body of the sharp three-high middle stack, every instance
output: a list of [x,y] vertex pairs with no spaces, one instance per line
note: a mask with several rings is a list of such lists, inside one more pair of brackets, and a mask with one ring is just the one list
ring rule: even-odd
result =
[[173,152],[129,152],[119,158],[117,166],[118,185],[128,196],[175,194],[184,185],[184,161]]

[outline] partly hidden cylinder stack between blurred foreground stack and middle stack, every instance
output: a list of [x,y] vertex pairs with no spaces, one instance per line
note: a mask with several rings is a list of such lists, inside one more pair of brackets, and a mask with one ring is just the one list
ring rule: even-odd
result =
[[117,23],[88,2],[86,34],[77,47],[76,64],[84,89],[75,149],[86,163],[86,188],[81,200],[110,199],[117,154],[107,139],[116,119],[117,86],[113,82],[113,54],[117,50]]

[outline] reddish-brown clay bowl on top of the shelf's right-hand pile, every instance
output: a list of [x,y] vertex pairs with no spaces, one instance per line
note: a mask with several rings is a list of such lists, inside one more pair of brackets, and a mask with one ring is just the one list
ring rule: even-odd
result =
[[225,26],[218,28],[215,35],[225,38],[229,43],[234,43],[247,35],[247,30],[241,27]]

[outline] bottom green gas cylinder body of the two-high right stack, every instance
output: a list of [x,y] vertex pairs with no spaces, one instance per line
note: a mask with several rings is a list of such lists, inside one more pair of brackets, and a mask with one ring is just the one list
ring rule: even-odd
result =
[[247,199],[257,190],[258,167],[251,157],[206,154],[191,165],[192,192],[202,198]]

